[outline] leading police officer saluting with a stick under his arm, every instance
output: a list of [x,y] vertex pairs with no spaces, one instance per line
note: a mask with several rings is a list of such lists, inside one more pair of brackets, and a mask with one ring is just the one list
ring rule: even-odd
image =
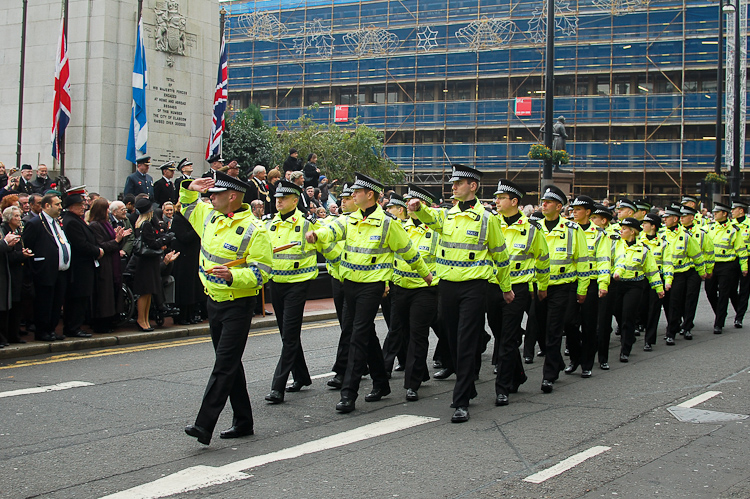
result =
[[[253,434],[253,411],[247,393],[242,354],[258,292],[271,274],[272,247],[263,224],[242,203],[247,184],[221,172],[185,182],[180,189],[182,214],[201,238],[200,279],[208,295],[208,321],[216,361],[195,423],[185,433],[211,442],[216,422],[229,398],[234,418],[221,438]],[[211,204],[198,192],[211,193]],[[212,206],[213,205],[213,206]],[[244,259],[235,267],[226,264]]]

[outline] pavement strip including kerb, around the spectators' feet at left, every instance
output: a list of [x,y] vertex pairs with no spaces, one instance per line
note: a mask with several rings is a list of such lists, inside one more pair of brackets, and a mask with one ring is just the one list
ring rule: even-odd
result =
[[[270,303],[266,303],[266,310],[273,311]],[[308,300],[305,304],[305,315],[303,322],[314,322],[336,319],[336,309],[333,299]],[[151,322],[155,326],[154,322]],[[253,317],[251,329],[276,327],[276,315],[265,317]],[[61,327],[58,327],[60,333]],[[84,329],[91,332],[89,329]],[[111,347],[115,345],[132,345],[135,343],[147,343],[150,341],[167,340],[171,338],[184,338],[186,336],[205,336],[209,334],[208,321],[192,326],[174,326],[172,319],[165,319],[163,327],[155,327],[154,331],[143,333],[134,326],[123,326],[112,334],[95,334],[91,338],[66,338],[61,341],[34,341],[32,334],[23,336],[27,343],[12,344],[0,348],[0,360],[17,357],[30,357],[32,355],[44,355],[48,353],[72,352],[90,348]]]

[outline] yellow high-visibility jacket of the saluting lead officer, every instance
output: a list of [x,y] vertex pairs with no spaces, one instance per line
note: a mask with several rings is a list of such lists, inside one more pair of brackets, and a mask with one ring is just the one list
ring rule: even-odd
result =
[[[271,275],[273,247],[268,231],[247,204],[240,212],[223,215],[209,203],[199,202],[199,198],[197,192],[180,188],[181,212],[201,238],[198,270],[206,294],[214,301],[257,295]],[[216,265],[240,258],[247,261],[231,269],[231,284],[206,274]]]

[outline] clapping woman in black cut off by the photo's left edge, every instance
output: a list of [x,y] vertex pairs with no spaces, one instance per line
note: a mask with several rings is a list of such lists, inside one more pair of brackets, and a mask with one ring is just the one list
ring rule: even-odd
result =
[[9,206],[3,210],[0,225],[0,348],[10,343],[26,343],[19,336],[21,323],[21,287],[24,260],[31,250],[21,242],[21,210]]

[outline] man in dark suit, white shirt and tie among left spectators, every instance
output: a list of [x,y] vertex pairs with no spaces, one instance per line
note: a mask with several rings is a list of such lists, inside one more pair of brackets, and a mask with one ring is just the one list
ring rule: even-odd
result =
[[68,284],[71,247],[65,232],[57,222],[62,211],[62,201],[54,194],[42,198],[42,212],[32,218],[24,228],[23,244],[29,248],[34,289],[39,299],[34,304],[38,341],[62,340],[55,333],[60,321],[65,289]]

